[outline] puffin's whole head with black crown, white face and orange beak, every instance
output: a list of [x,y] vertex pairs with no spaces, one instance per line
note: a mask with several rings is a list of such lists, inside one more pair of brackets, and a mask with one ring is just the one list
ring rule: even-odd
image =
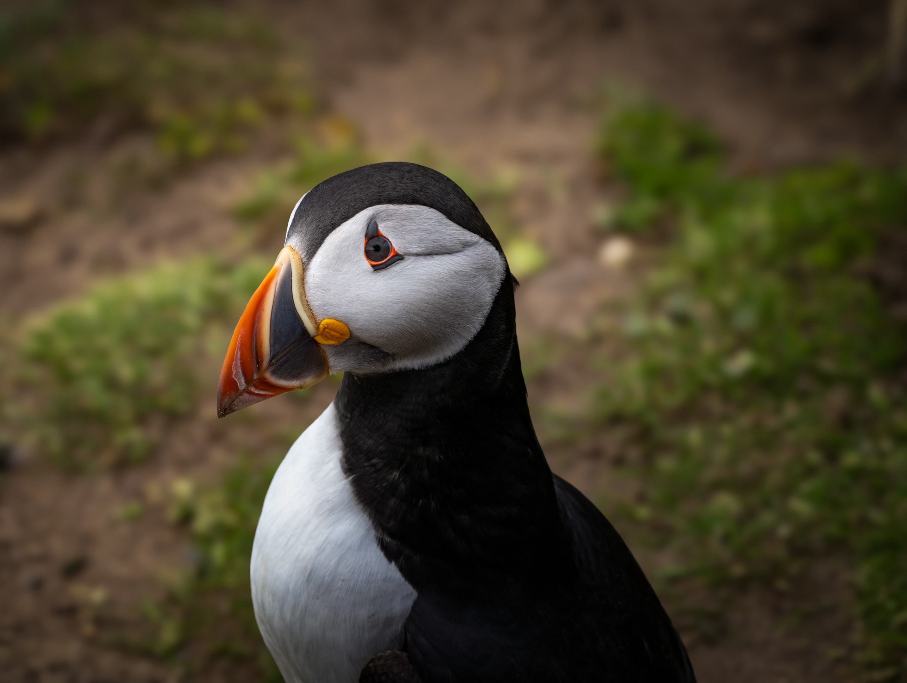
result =
[[218,415],[317,384],[434,366],[483,327],[511,278],[475,204],[438,171],[340,173],[290,214],[285,246],[239,318]]

